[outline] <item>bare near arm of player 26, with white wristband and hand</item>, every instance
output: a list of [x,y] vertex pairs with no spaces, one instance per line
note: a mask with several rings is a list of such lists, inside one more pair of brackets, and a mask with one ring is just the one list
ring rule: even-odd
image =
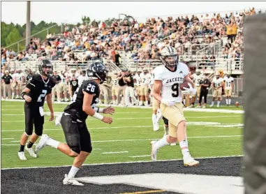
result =
[[86,112],[91,117],[99,119],[99,120],[103,121],[106,124],[112,124],[112,118],[111,117],[103,117],[103,115],[99,114],[98,112],[96,112],[91,107],[91,102],[92,102],[93,98],[94,98],[94,94],[89,94],[87,92],[84,92],[82,110],[84,112]]

